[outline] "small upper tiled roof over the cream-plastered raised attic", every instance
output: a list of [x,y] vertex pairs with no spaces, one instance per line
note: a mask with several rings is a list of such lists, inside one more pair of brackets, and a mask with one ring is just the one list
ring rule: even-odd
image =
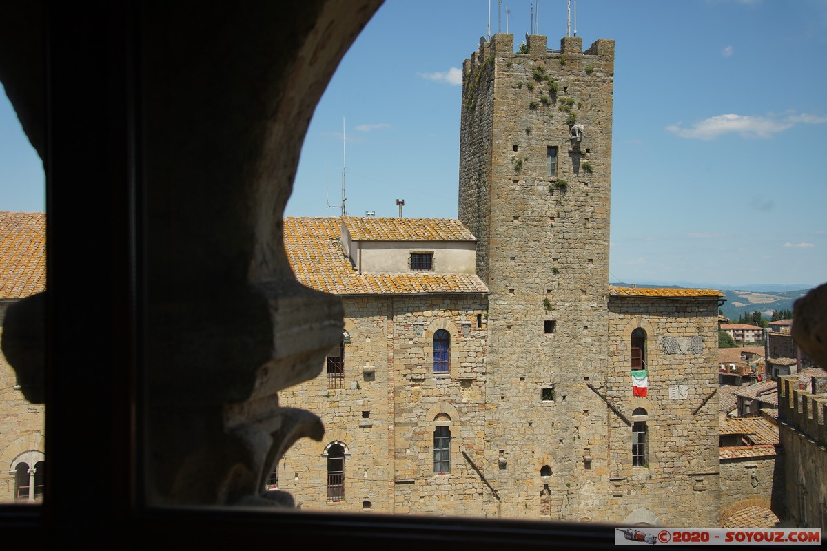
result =
[[345,216],[342,220],[357,241],[476,241],[461,221],[452,218]]

